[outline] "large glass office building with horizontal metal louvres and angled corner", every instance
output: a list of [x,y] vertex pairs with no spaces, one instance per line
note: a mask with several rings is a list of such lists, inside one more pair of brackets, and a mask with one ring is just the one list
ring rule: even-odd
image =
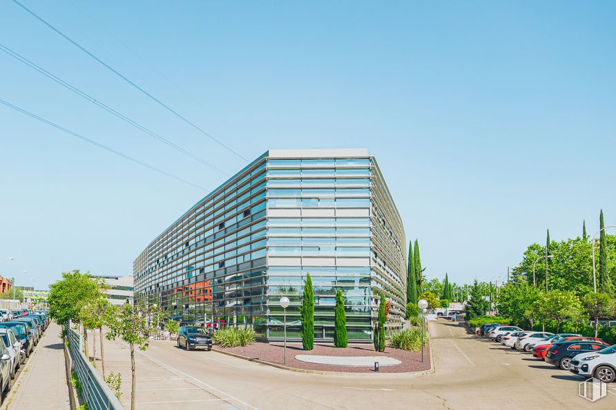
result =
[[191,207],[133,265],[135,302],[186,323],[249,325],[300,338],[302,284],[314,286],[317,340],[334,334],[343,292],[349,340],[370,340],[380,294],[387,326],[405,314],[405,234],[367,150],[270,150]]

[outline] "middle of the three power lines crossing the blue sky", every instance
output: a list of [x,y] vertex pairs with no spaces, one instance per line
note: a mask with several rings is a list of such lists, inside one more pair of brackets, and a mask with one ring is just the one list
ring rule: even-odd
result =
[[117,112],[116,110],[114,110],[113,108],[109,107],[108,105],[102,103],[101,101],[98,101],[93,96],[90,96],[90,95],[86,94],[86,92],[83,92],[83,91],[79,90],[79,88],[77,88],[77,87],[75,87],[73,85],[70,85],[69,83],[67,83],[63,79],[60,79],[59,77],[55,76],[54,74],[48,72],[47,70],[42,68],[40,65],[37,65],[36,63],[33,63],[32,61],[26,59],[26,57],[23,57],[23,56],[17,54],[17,52],[15,52],[15,51],[11,50],[10,48],[6,47],[6,45],[3,45],[3,44],[0,43],[0,50],[2,50],[3,52],[6,52],[6,54],[10,55],[10,57],[13,57],[13,58],[21,61],[21,63],[24,63],[24,64],[28,65],[30,68],[36,70],[37,72],[40,72],[44,76],[47,76],[49,79],[52,79],[56,83],[62,85],[64,88],[67,88],[68,90],[70,90],[72,92],[75,92],[75,94],[83,97],[84,99],[90,101],[91,103],[94,103],[94,104],[98,105],[103,110],[106,110],[107,112],[110,112],[111,114],[117,116],[117,118],[122,119],[122,121],[126,121],[127,123],[133,125],[134,127],[137,127],[137,129],[142,130],[146,134],[148,134],[150,136],[153,136],[155,139],[161,141],[162,143],[165,143],[166,145],[169,145],[170,147],[173,147],[175,150],[177,150],[179,152],[182,152],[182,154],[190,156],[195,161],[198,161],[198,162],[202,163],[203,165],[207,165],[208,167],[211,167],[213,170],[215,170],[217,172],[220,172],[220,174],[223,174],[224,176],[229,176],[229,174],[227,174],[227,172],[224,172],[223,170],[221,170],[220,168],[216,167],[215,165],[212,165],[211,163],[209,163],[209,162],[199,158],[195,154],[193,154],[193,153],[191,153],[191,152],[189,152],[187,150],[184,150],[184,148],[176,145],[175,143],[169,141],[168,139],[165,139],[164,137],[156,134],[155,132],[153,132],[151,130],[148,130],[148,128],[146,128],[143,125],[137,123],[136,121],[133,121],[132,119],[128,118],[128,116],[125,116],[124,114],[122,114],[120,112]]

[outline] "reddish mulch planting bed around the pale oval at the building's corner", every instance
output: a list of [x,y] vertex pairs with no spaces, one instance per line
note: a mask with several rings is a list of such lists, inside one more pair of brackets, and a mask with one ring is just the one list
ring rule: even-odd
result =
[[[255,343],[246,347],[222,348],[214,346],[214,350],[227,351],[229,353],[243,356],[252,360],[258,359],[262,362],[270,362],[275,365],[284,363],[284,347],[282,343]],[[302,349],[301,343],[287,343],[287,367],[317,371],[340,371],[347,373],[374,373],[373,367],[353,367],[353,366],[334,366],[320,365],[317,363],[307,363],[296,360],[298,354],[314,356],[389,356],[401,361],[400,365],[380,366],[380,373],[405,373],[410,371],[424,371],[430,369],[430,347],[425,347],[424,362],[421,362],[421,352],[414,353],[401,349],[387,347],[384,352],[374,351],[372,345],[349,345],[346,348],[334,347],[334,345],[316,344],[311,351]]]

